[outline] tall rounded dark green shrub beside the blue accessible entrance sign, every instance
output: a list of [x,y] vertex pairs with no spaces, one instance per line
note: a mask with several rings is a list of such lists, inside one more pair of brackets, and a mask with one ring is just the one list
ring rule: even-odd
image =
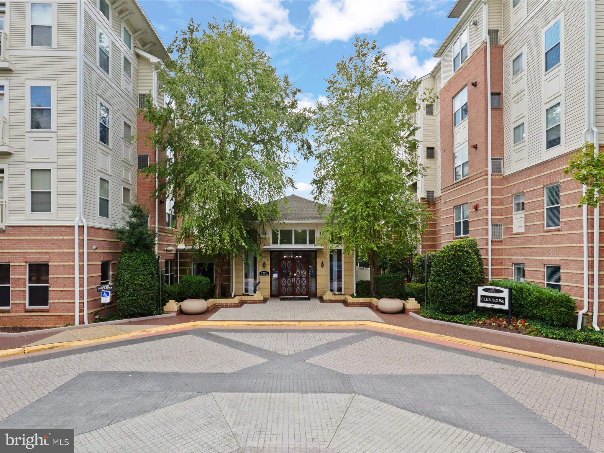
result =
[[140,249],[122,252],[115,271],[118,312],[129,318],[152,314],[158,291],[155,253]]

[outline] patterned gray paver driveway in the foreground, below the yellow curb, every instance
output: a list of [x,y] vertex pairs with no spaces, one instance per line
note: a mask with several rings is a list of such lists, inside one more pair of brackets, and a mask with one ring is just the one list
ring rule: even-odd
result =
[[364,330],[207,330],[0,362],[0,428],[77,452],[604,451],[604,381]]

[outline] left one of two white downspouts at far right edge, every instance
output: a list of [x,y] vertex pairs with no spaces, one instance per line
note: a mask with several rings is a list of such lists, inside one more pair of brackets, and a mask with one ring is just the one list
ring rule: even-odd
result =
[[[591,131],[591,89],[590,89],[590,65],[591,65],[591,20],[590,20],[590,6],[589,1],[585,2],[585,129],[583,129],[583,143],[588,141],[588,134]],[[591,135],[591,134],[590,134]],[[583,196],[587,186],[583,184]],[[595,219],[595,217],[594,217]],[[595,223],[594,223],[595,225]],[[594,228],[595,231],[595,228]],[[583,309],[577,313],[577,330],[581,329],[583,325],[583,315],[590,309],[590,260],[589,260],[589,226],[588,226],[588,208],[587,205],[583,205]],[[595,279],[594,279],[595,281]]]

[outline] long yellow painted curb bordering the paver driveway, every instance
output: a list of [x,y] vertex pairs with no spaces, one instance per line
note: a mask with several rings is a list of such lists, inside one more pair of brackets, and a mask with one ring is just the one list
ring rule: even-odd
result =
[[0,358],[15,356],[33,352],[40,352],[51,349],[58,349],[71,346],[83,346],[96,344],[105,341],[114,341],[118,339],[134,338],[149,333],[169,332],[170,330],[187,329],[188,327],[211,327],[211,326],[353,326],[353,327],[377,327],[378,329],[394,330],[395,332],[408,333],[411,335],[424,336],[426,338],[440,339],[468,346],[474,346],[479,349],[488,349],[497,352],[531,357],[548,362],[571,365],[573,367],[587,368],[588,370],[604,371],[604,365],[592,364],[563,357],[550,356],[536,352],[512,349],[494,344],[482,343],[478,341],[457,338],[455,336],[442,335],[440,333],[425,332],[423,330],[406,329],[406,327],[392,326],[391,324],[376,323],[374,321],[193,321],[191,323],[170,324],[169,326],[150,327],[149,329],[135,330],[134,332],[124,333],[122,335],[106,336],[103,338],[94,338],[80,341],[65,341],[60,343],[40,344],[36,346],[25,346],[14,349],[0,350]]

